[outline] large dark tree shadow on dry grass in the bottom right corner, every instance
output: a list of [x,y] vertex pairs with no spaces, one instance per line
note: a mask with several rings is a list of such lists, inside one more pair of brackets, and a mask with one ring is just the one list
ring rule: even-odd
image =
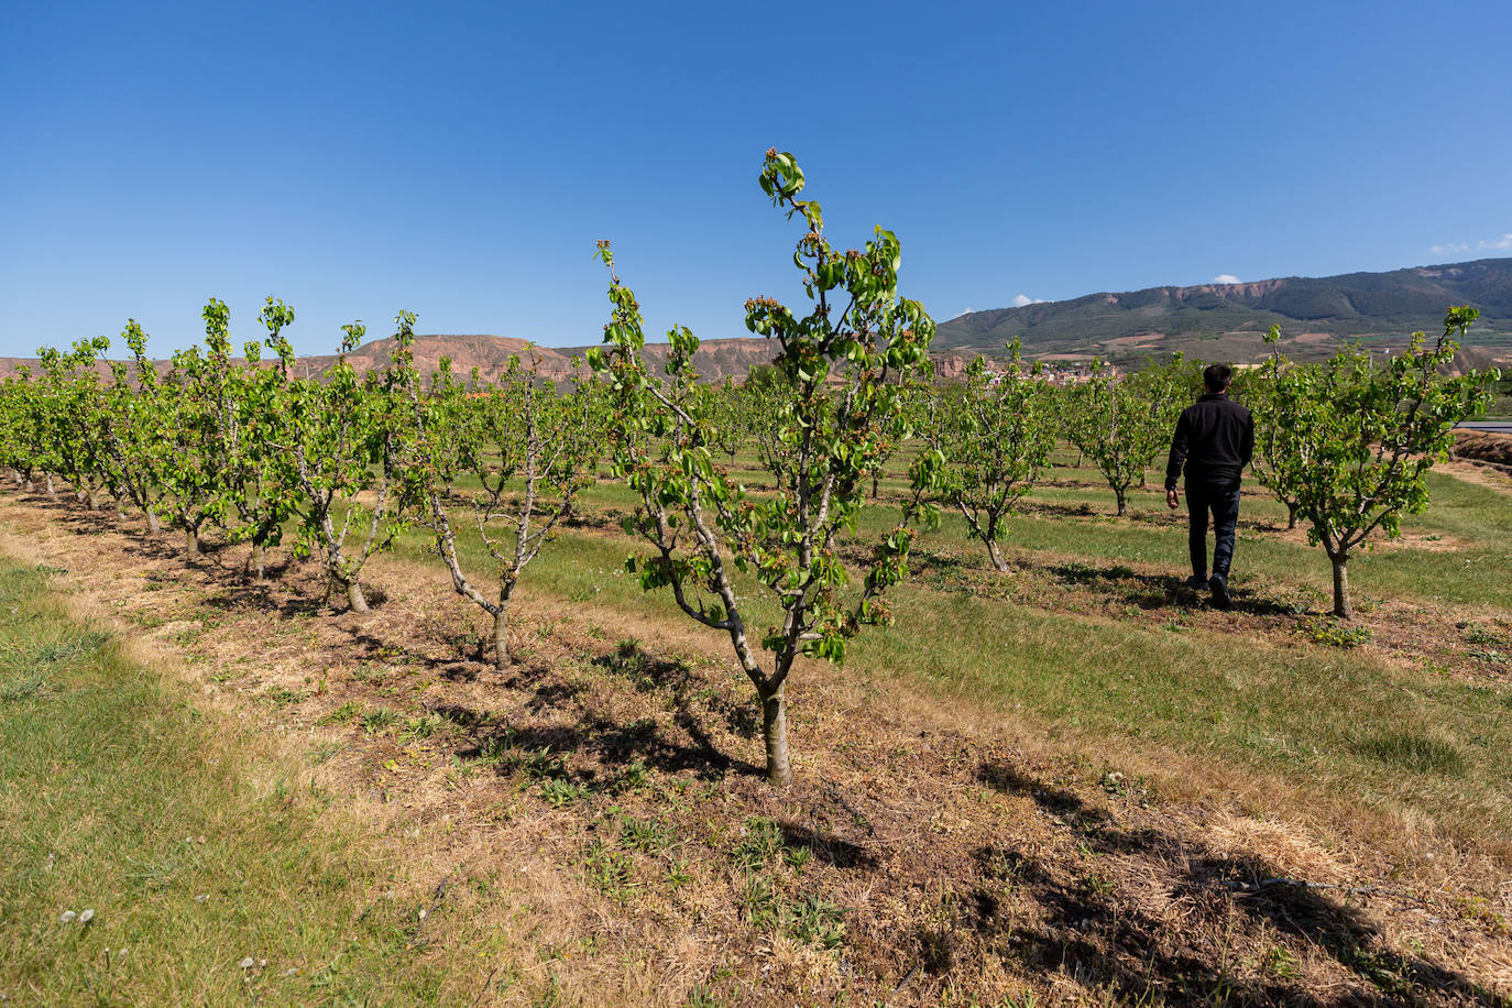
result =
[[[1284,872],[1258,854],[1229,855],[1158,828],[1120,827],[1074,792],[1004,763],[984,763],[978,778],[1033,798],[1070,828],[1086,855],[1078,867],[998,845],[974,851],[978,884],[963,926],[1033,969],[1067,970],[1140,1003],[1506,1003],[1453,969],[1390,948],[1358,905],[1278,883]],[[1120,884],[1119,864],[1131,860],[1132,881]],[[1157,878],[1157,899],[1125,892]],[[1184,920],[1172,926],[1178,908]],[[1294,963],[1309,955],[1343,967],[1353,987],[1309,988],[1294,976]],[[1237,970],[1241,961],[1256,967]]]

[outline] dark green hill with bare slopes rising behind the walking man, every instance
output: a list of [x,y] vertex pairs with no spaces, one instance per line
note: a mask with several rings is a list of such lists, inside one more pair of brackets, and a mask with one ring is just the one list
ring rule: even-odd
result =
[[1512,361],[1512,258],[1415,266],[1385,274],[1282,277],[1246,284],[1148,287],[971,311],[939,326],[937,352],[995,354],[1015,335],[1028,357],[1129,361],[1185,352],[1250,361],[1279,325],[1287,352],[1326,357],[1344,340],[1396,346],[1442,331],[1444,310],[1468,304],[1480,320],[1464,340],[1467,361]]

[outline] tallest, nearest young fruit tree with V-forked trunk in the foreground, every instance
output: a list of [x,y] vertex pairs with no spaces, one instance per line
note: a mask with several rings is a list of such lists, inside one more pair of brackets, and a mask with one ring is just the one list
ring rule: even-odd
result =
[[[897,236],[878,227],[865,249],[836,251],[820,204],[798,198],[803,184],[792,154],[767,151],[762,190],[807,225],[794,263],[813,302],[804,314],[771,298],[745,304],[745,325],[776,345],[782,378],[773,385],[780,393],[771,417],[777,450],[762,455],[773,493],[747,494],[715,465],[718,413],[712,390],[697,384],[692,332],[668,332],[665,378],[647,369],[640,304],[614,274],[608,242],[599,254],[609,267],[612,320],[608,346],[590,354],[614,390],[614,472],[640,497],[626,524],[650,547],[629,568],[643,588],[671,588],[688,617],[729,635],[761,703],[767,778],[779,786],[792,781],[785,689],[794,660],[842,660],[860,627],[891,620],[883,594],[907,573],[918,515],[906,512],[889,530],[863,536],[860,511],[885,444],[904,434],[900,390],[889,379],[924,364],[934,335],[924,307],[898,298]],[[859,589],[847,591],[842,538],[871,538]],[[748,626],[753,589],[779,612],[759,639]]]

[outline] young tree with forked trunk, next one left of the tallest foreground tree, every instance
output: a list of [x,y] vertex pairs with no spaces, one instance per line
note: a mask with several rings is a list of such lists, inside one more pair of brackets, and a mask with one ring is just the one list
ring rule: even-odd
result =
[[[558,394],[538,376],[540,355],[532,346],[526,348],[529,367],[513,355],[497,382],[479,388],[475,373],[470,394],[443,360],[429,394],[422,394],[413,337],[401,332],[396,370],[414,438],[405,452],[405,494],[417,506],[417,521],[431,529],[452,588],[493,617],[494,668],[505,669],[511,662],[510,606],[520,577],[596,475],[602,440],[590,416],[594,390],[579,381],[572,393]],[[463,476],[476,479],[479,490],[461,494],[457,484]],[[457,497],[472,511],[464,535],[476,536],[491,561],[493,597],[458,556],[448,509]]]

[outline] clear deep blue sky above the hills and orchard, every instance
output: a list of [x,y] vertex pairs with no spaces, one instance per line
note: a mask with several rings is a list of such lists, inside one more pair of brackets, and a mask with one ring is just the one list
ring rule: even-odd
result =
[[937,319],[1016,298],[1512,255],[1512,3],[0,5],[0,355],[166,354],[206,298],[301,352],[597,342],[801,299],[756,187],[903,240]]

